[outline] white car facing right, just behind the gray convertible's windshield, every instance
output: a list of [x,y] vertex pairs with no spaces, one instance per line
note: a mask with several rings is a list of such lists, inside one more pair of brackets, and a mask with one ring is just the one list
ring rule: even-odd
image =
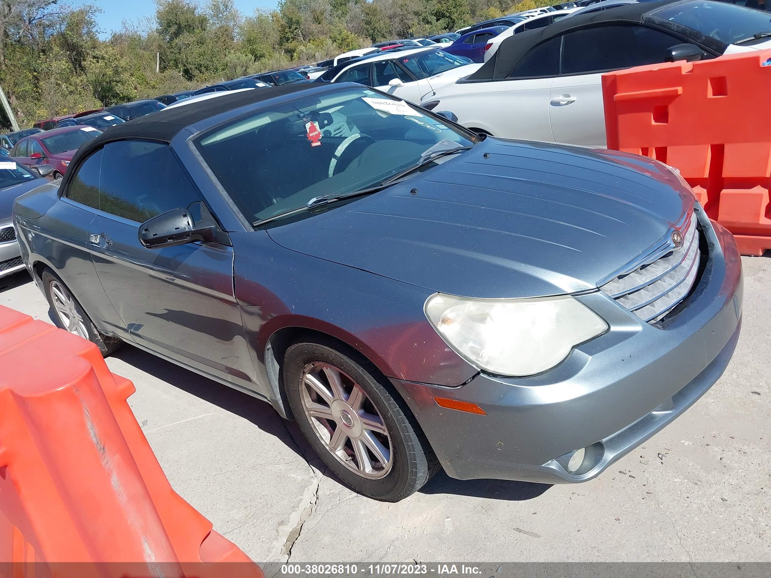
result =
[[473,74],[480,66],[441,49],[399,50],[351,62],[330,82],[359,82],[419,104],[424,96]]

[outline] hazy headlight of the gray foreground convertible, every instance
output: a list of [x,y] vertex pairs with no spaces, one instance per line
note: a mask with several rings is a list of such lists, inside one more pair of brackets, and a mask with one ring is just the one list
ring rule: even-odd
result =
[[435,294],[426,317],[461,357],[497,375],[553,368],[575,345],[608,324],[569,295],[536,299],[471,299]]

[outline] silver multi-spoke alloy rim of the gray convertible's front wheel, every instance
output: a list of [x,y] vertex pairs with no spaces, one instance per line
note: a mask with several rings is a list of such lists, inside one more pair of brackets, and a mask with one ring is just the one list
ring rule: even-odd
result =
[[318,439],[359,476],[379,479],[393,464],[391,436],[361,385],[334,365],[305,365],[300,399]]

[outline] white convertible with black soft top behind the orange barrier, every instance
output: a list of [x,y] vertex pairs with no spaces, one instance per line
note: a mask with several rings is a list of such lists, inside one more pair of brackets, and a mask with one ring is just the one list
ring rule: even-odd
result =
[[711,0],[628,4],[515,35],[421,105],[480,133],[603,147],[603,72],[769,48],[767,12]]

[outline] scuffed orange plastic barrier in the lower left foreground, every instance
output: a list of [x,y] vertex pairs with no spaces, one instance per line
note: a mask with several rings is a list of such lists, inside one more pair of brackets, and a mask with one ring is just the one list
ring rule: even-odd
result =
[[25,562],[53,576],[68,562],[132,563],[77,570],[93,576],[215,576],[205,563],[240,562],[228,566],[237,576],[263,578],[171,489],[126,402],[133,391],[89,341],[0,306],[3,578],[25,575]]

